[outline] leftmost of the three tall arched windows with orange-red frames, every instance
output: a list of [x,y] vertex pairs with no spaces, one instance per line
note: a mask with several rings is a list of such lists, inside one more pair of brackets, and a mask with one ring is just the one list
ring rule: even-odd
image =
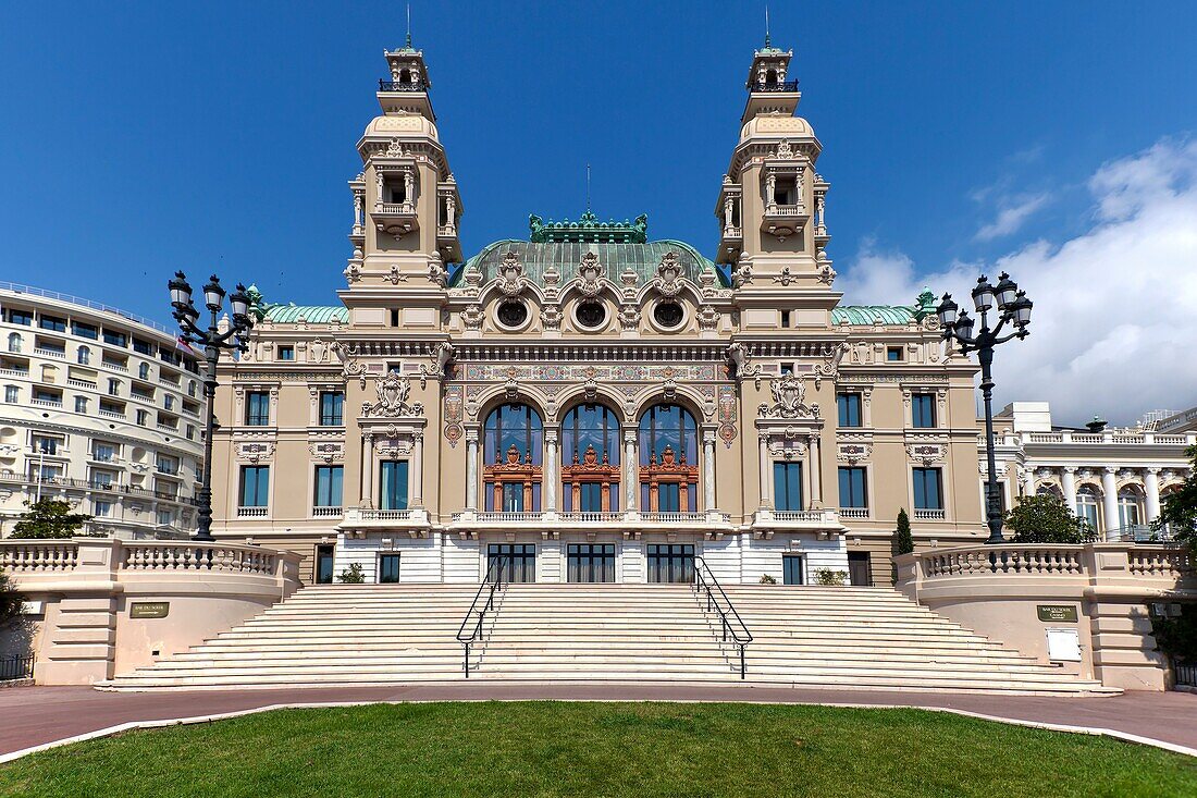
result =
[[486,417],[482,435],[485,509],[539,513],[545,442],[540,413],[529,405],[500,405]]

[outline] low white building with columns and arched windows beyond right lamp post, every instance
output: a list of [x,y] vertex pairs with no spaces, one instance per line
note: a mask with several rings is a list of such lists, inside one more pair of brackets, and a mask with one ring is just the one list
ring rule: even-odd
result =
[[1003,507],[1017,496],[1051,492],[1107,540],[1159,536],[1150,522],[1160,514],[1161,497],[1189,474],[1185,449],[1197,445],[1197,407],[1107,429],[1099,419],[1082,428],[1057,427],[1046,401],[1016,401],[995,424]]

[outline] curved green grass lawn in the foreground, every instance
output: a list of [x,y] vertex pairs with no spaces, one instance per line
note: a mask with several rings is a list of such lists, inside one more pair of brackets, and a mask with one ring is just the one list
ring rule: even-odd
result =
[[1197,761],[913,709],[413,703],[80,743],[0,796],[1197,796]]

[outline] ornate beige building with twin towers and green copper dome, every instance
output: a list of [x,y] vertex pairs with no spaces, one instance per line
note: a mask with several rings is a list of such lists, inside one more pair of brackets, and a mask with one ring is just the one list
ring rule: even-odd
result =
[[424,54],[387,52],[345,289],[259,297],[221,368],[213,532],[381,582],[888,585],[899,509],[980,539],[976,367],[930,291],[840,304],[791,56],[752,56],[700,247],[587,210],[466,254]]

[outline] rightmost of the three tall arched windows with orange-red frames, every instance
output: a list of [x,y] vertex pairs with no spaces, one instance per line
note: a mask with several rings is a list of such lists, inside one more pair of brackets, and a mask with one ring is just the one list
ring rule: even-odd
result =
[[640,507],[698,510],[698,425],[681,405],[654,405],[640,417]]

